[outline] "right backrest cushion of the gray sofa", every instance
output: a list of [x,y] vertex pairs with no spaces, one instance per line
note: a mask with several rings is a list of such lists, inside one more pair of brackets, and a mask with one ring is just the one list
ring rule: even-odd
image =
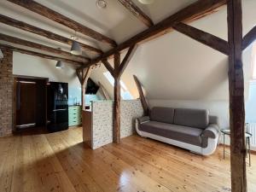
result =
[[205,109],[176,108],[174,124],[206,129],[209,125],[209,111]]

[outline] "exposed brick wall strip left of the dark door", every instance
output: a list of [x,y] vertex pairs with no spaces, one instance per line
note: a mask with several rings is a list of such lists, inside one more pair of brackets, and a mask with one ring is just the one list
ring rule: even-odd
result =
[[0,137],[12,133],[13,125],[13,51],[2,49],[0,61]]

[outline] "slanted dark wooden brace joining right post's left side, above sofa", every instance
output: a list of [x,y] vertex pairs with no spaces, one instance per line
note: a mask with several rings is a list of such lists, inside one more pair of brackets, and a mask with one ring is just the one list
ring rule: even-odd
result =
[[203,32],[193,26],[184,23],[177,23],[172,26],[177,32],[181,32],[189,38],[193,38],[201,44],[205,44],[212,49],[218,50],[224,55],[229,55],[229,44],[222,38],[218,38],[208,32]]

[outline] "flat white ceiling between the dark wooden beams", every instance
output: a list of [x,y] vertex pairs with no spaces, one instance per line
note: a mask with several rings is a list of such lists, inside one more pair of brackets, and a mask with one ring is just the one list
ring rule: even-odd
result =
[[[131,15],[117,0],[106,1],[108,2],[108,8],[98,9],[96,7],[96,0],[36,0],[36,2],[50,9],[54,9],[68,18],[78,21],[96,32],[101,32],[107,37],[113,38],[118,44],[147,28],[143,22]],[[143,5],[142,3],[138,3],[137,0],[134,0],[134,3],[137,3],[137,6],[143,9],[143,11],[154,20],[154,23],[165,19],[178,9],[182,9],[193,2],[195,2],[195,0],[155,0],[153,4]],[[28,24],[49,30],[50,32],[55,32],[66,38],[70,38],[71,35],[74,34],[72,29],[44,18],[44,16],[35,14],[14,3],[9,3],[8,1],[0,1],[0,13],[14,18],[15,20],[21,20]],[[48,38],[40,37],[30,32],[24,32],[2,23],[0,23],[0,29],[1,32],[11,36],[31,40],[39,44],[46,44],[55,48],[61,47],[61,49],[64,50],[69,49],[67,44],[57,43]],[[110,49],[108,45],[99,43],[83,34],[78,33],[78,36],[81,43],[90,44],[103,50]],[[90,57],[96,56],[88,55]]]

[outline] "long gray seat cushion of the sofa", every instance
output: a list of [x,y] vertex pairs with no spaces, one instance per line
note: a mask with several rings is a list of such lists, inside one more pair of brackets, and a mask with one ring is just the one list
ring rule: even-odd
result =
[[166,124],[157,121],[148,121],[141,124],[139,130],[201,147],[201,133],[203,131],[201,129]]

